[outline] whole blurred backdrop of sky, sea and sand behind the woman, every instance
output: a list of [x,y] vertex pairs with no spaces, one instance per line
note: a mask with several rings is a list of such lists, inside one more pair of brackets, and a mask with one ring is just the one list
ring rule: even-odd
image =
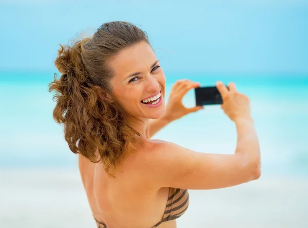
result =
[[[95,227],[48,83],[58,44],[108,21],[148,33],[167,100],[183,78],[235,82],[251,98],[261,178],[191,190],[178,227],[308,227],[307,0],[0,0],[0,227]],[[193,90],[183,102],[195,106]],[[220,106],[206,106],[153,138],[234,153],[237,135]]]

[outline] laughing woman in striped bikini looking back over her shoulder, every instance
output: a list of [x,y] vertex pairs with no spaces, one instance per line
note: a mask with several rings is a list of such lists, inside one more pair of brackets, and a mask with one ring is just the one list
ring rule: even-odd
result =
[[64,124],[98,227],[174,228],[186,211],[187,189],[256,180],[260,152],[249,99],[217,82],[221,108],[235,122],[235,154],[198,153],[150,139],[169,122],[196,112],[183,96],[199,83],[179,80],[165,107],[165,75],[144,31],[127,22],[103,24],[91,38],[61,46],[62,73],[53,117]]

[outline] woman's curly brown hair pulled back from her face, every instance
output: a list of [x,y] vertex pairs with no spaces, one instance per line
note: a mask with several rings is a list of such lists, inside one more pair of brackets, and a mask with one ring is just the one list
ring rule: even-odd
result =
[[[53,118],[63,124],[70,150],[93,163],[102,161],[113,178],[124,151],[136,149],[133,142],[138,132],[129,127],[131,117],[112,96],[109,81],[114,74],[108,61],[142,41],[149,44],[147,33],[132,23],[104,23],[91,37],[71,46],[60,44],[55,66],[62,75],[57,80],[55,74],[48,84],[49,92],[55,91]],[[108,95],[115,102],[103,99]]]

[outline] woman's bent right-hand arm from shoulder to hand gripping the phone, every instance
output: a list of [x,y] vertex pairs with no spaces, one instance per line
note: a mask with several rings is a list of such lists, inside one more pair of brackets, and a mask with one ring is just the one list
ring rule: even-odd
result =
[[250,115],[249,99],[243,94],[233,93],[233,89],[231,86],[231,94],[227,96],[227,90],[222,91],[226,101],[222,108],[235,122],[237,129],[234,154],[200,153],[161,141],[144,163],[148,176],[152,177],[153,187],[214,189],[260,177],[260,147]]

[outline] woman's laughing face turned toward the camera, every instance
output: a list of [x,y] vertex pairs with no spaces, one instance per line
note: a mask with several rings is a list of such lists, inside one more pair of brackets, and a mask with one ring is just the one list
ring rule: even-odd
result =
[[128,114],[150,119],[165,114],[166,78],[149,44],[140,42],[120,51],[109,65],[114,72],[113,96]]

